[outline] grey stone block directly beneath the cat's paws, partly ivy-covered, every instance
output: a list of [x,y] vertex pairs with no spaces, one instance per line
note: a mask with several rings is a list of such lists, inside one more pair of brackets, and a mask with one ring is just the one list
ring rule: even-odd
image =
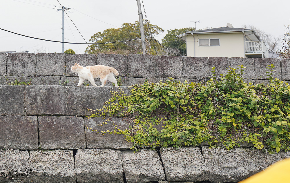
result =
[[[90,86],[66,86],[67,88],[67,115],[85,116],[92,113],[87,109],[101,109],[104,103],[111,97],[111,90],[118,90],[117,87],[90,87]],[[129,89],[122,87],[126,93]]]

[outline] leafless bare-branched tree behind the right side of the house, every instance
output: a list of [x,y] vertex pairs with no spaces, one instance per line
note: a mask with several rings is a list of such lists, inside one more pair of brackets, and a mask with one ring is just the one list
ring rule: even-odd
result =
[[244,25],[243,26],[244,28],[249,28],[249,29],[253,29],[256,34],[265,42],[269,45],[269,51],[273,51],[273,52],[277,52],[279,50],[279,41],[281,38],[279,37],[273,37],[273,35],[267,33],[267,32],[264,32],[260,29],[258,29],[257,27],[255,26],[252,26],[252,25],[249,25],[249,26],[246,26]]

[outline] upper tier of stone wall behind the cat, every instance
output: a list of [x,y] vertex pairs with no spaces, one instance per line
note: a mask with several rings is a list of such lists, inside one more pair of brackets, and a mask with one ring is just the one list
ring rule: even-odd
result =
[[[275,77],[290,80],[290,59],[227,58],[227,57],[177,57],[155,55],[113,55],[113,54],[63,54],[63,53],[0,53],[0,85],[9,82],[31,81],[32,85],[76,86],[77,73],[70,71],[74,63],[82,66],[107,65],[119,71],[122,86],[166,80],[174,77],[184,82],[200,81],[211,77],[211,68],[216,75],[224,74],[228,66],[247,67],[244,78],[258,83],[267,80],[268,64],[274,64]],[[95,79],[99,86],[101,82]],[[107,86],[112,86],[109,82]]]

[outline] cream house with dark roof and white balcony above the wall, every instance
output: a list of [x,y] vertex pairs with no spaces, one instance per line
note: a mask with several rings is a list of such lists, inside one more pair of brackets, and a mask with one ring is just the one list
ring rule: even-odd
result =
[[268,58],[266,45],[253,29],[226,27],[195,30],[177,35],[186,41],[188,57]]

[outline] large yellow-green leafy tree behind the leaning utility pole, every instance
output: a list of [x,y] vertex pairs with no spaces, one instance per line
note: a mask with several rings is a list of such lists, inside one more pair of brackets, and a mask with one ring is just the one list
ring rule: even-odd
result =
[[[145,37],[147,36],[156,36],[161,32],[164,32],[164,29],[153,25],[150,23],[150,21],[143,20],[144,22],[144,32]],[[118,43],[108,43],[108,44],[93,44],[90,47],[86,48],[86,53],[93,53],[92,50],[94,50],[95,53],[120,53],[129,55],[129,54],[138,54],[142,53],[142,44],[141,40],[132,40],[136,38],[140,38],[140,25],[139,21],[135,21],[135,23],[123,23],[121,28],[110,28],[106,29],[103,32],[97,32],[95,35],[91,37],[89,41],[95,42],[95,43],[108,43],[108,42],[117,42],[117,41],[124,41],[124,42],[118,42]],[[131,40],[131,41],[125,41],[125,40]],[[152,40],[152,39],[151,39]],[[148,38],[146,39],[148,42]],[[150,48],[150,44],[147,44],[148,47],[146,49]]]

